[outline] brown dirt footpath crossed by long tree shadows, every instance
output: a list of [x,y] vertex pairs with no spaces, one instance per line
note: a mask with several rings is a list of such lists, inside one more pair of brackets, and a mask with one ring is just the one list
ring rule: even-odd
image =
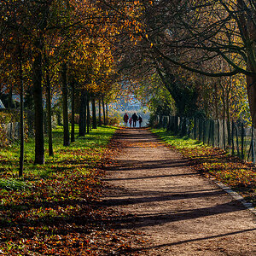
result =
[[125,213],[117,225],[139,230],[139,255],[256,255],[255,217],[180,154],[145,129],[122,129],[124,150],[107,172],[104,204]]

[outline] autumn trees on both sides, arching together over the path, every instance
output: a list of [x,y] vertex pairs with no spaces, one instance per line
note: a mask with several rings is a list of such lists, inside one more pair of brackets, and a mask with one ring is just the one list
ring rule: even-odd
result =
[[80,135],[89,102],[95,119],[95,101],[111,98],[118,80],[155,111],[230,119],[245,116],[248,105],[256,125],[253,1],[4,0],[0,7],[0,84],[20,94],[21,130],[23,97],[31,102],[32,91],[35,163],[44,163],[43,96],[49,145],[60,95],[69,144],[68,86],[72,116],[79,98]]

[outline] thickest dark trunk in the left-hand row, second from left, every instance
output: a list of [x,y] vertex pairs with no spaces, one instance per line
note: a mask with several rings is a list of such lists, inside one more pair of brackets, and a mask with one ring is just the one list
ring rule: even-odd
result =
[[36,52],[32,63],[33,97],[35,107],[35,164],[44,164],[44,111],[42,93],[42,39],[35,42]]

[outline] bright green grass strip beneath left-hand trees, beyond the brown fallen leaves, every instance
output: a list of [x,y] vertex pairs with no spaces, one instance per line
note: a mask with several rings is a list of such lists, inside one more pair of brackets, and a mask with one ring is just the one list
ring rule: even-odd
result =
[[[75,126],[75,132],[78,134],[78,125]],[[102,126],[96,130],[92,130],[90,134],[86,134],[84,137],[76,137],[75,142],[70,146],[64,147],[63,143],[63,128],[58,126],[53,131],[53,147],[54,156],[48,155],[48,138],[45,137],[45,165],[34,165],[34,140],[29,138],[25,143],[25,165],[24,165],[24,179],[30,180],[38,177],[50,176],[52,172],[55,172],[57,163],[65,161],[79,161],[84,160],[96,160],[103,152],[104,148],[108,144],[110,137],[113,136],[113,132],[116,130],[114,127]],[[79,154],[79,150],[91,151],[91,154],[87,156]],[[89,152],[88,152],[89,153]],[[4,186],[1,182],[1,178],[17,178],[19,172],[19,155],[20,148],[18,143],[9,145],[9,147],[0,150],[0,186]],[[93,161],[91,161],[93,162]],[[63,166],[62,166],[63,167]],[[68,163],[65,168],[68,168]],[[61,170],[59,166],[58,171]],[[16,182],[17,183],[17,182]],[[18,185],[17,185],[18,186]]]

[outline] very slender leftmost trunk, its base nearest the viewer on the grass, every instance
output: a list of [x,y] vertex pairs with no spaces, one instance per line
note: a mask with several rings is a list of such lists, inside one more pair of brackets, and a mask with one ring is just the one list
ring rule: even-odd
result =
[[22,74],[21,49],[19,45],[19,80],[20,80],[20,168],[19,177],[23,176],[24,168],[24,86]]

